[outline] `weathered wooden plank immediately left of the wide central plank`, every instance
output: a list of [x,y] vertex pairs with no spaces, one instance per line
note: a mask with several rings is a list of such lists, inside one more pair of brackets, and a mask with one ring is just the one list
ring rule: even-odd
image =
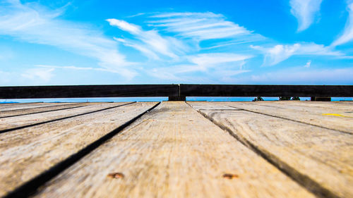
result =
[[0,134],[0,197],[155,104],[147,102],[119,106]]

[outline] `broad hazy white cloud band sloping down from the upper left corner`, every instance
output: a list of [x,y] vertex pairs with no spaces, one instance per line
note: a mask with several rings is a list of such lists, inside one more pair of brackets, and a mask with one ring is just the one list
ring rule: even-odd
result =
[[119,54],[116,42],[88,25],[60,20],[62,9],[48,10],[37,3],[5,1],[0,6],[0,35],[26,42],[47,44],[97,59],[103,68],[119,71],[132,78],[135,73],[125,66],[132,63]]

